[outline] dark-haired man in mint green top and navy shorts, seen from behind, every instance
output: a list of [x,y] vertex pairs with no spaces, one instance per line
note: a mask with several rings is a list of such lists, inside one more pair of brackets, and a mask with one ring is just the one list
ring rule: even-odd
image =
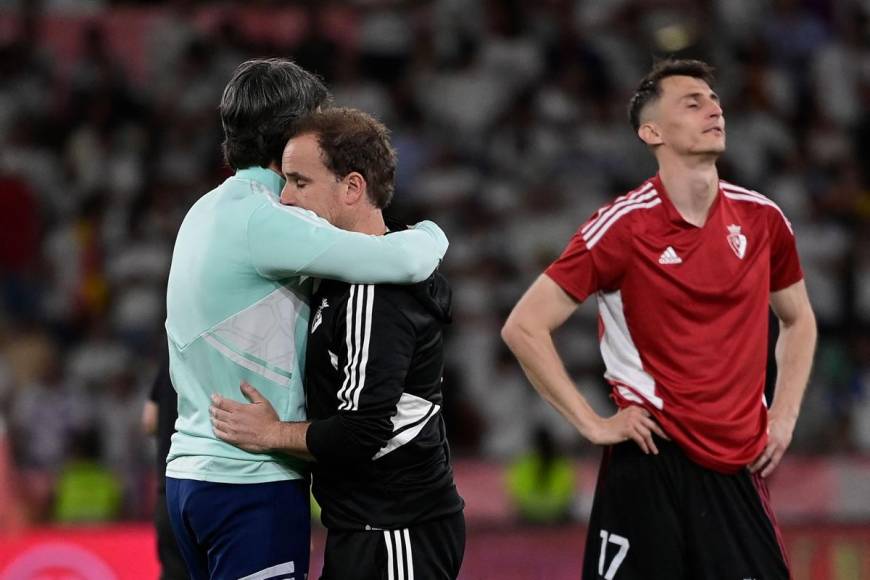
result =
[[328,99],[316,77],[289,61],[243,63],[220,107],[224,154],[236,173],[194,204],[176,240],[166,331],[178,420],[167,504],[194,579],[302,580],[308,571],[305,464],[219,440],[211,395],[238,398],[246,381],[283,421],[304,420],[313,278],[418,282],[447,249],[431,222],[368,236],[281,205],[280,157],[292,123]]

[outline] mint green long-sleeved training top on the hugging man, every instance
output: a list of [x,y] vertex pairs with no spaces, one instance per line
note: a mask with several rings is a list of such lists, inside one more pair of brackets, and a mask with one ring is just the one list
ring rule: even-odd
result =
[[166,295],[169,370],[178,392],[169,477],[223,483],[303,477],[303,461],[219,440],[209,419],[211,395],[247,402],[239,390],[247,381],[282,421],[305,420],[308,277],[419,282],[447,250],[444,232],[431,222],[389,236],[338,229],[281,205],[283,185],[269,169],[237,171],[181,224]]

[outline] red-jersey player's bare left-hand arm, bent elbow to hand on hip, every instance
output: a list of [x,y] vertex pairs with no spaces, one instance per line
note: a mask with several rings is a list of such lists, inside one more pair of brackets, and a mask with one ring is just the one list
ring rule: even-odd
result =
[[658,453],[652,433],[661,428],[640,407],[600,417],[574,386],[553,343],[553,332],[577,309],[577,303],[551,278],[541,275],[514,307],[502,329],[529,381],[581,435],[599,445],[633,439],[646,453]]

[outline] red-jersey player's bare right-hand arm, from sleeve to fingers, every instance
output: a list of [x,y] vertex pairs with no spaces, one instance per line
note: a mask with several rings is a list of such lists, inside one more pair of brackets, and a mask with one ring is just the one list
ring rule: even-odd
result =
[[776,469],[791,443],[816,349],[816,317],[803,280],[771,293],[770,306],[779,319],[776,386],[767,414],[767,446],[749,467],[753,473],[761,469],[762,477]]

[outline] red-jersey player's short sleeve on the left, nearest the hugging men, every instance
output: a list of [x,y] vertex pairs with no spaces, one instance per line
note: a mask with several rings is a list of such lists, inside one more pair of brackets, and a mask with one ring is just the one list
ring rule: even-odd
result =
[[595,228],[596,213],[571,238],[555,262],[544,271],[565,292],[583,302],[599,290],[615,290],[622,281],[631,255],[628,219]]

